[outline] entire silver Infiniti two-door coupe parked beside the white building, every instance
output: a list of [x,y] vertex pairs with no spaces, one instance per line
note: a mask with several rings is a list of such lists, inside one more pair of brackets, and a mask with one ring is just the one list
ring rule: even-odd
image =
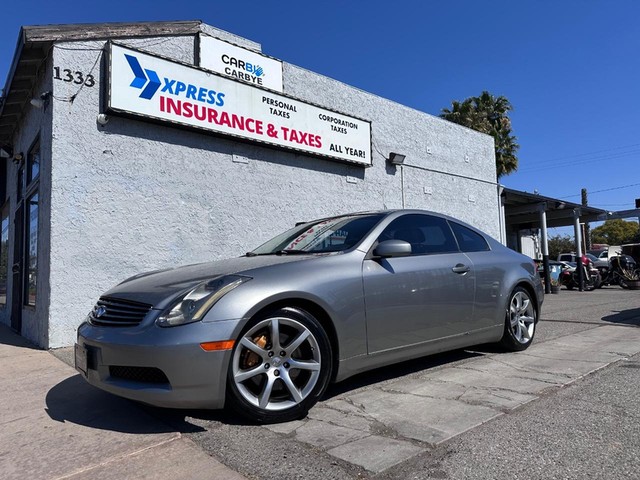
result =
[[144,403],[286,421],[365,370],[487,342],[524,350],[543,299],[530,258],[453,218],[342,215],[125,280],[80,325],[76,368]]

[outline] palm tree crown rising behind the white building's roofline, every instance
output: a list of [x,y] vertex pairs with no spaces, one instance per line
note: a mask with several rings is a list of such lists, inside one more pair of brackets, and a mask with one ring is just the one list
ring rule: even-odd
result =
[[516,152],[520,145],[511,132],[509,112],[512,110],[513,106],[506,97],[495,97],[484,91],[479,97],[469,97],[462,102],[454,100],[451,109],[442,109],[440,117],[493,137],[496,174],[500,178],[518,169]]

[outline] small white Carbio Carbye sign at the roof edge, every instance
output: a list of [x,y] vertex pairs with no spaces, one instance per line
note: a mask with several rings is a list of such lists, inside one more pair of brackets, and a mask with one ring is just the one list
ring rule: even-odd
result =
[[282,62],[200,34],[200,66],[236,80],[282,92]]

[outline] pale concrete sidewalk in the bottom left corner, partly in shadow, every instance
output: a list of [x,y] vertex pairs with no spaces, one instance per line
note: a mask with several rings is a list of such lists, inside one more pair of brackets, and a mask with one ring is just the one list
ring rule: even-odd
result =
[[[0,477],[243,479],[0,325]],[[90,406],[90,407],[88,407]]]

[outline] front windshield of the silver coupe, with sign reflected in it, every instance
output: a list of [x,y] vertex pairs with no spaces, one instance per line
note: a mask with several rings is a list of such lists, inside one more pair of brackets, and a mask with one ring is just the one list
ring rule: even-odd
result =
[[350,215],[297,225],[247,255],[345,251],[360,243],[383,216]]

